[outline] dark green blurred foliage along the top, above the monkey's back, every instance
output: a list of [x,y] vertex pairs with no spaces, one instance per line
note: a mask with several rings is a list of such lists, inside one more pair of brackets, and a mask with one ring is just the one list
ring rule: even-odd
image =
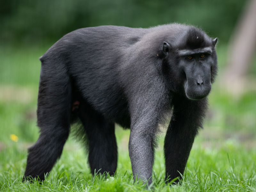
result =
[[170,22],[196,25],[227,43],[244,0],[1,0],[2,41],[57,41],[78,28],[148,28]]

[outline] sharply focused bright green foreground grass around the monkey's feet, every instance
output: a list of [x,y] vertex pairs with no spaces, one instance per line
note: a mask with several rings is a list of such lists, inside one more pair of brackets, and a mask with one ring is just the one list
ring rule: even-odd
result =
[[[92,177],[84,150],[68,141],[60,160],[43,184],[37,181],[22,183],[27,156],[26,146],[22,142],[9,144],[0,153],[0,190],[146,191],[146,186],[141,182],[133,183],[128,151],[120,146],[120,138],[118,143],[118,168],[114,177]],[[158,150],[151,190],[256,191],[255,159],[255,150],[246,150],[230,143],[219,149],[193,147],[181,185],[170,187],[164,184],[163,151]]]

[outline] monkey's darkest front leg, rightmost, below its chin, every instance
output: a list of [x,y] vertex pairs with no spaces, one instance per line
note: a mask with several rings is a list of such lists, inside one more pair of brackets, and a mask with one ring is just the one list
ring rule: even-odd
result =
[[[202,127],[207,100],[188,100],[186,106],[190,110],[174,105],[173,116],[164,140],[165,179],[168,181],[180,178],[180,173],[183,174],[185,170],[194,139],[199,127]],[[178,181],[177,179],[174,182]]]

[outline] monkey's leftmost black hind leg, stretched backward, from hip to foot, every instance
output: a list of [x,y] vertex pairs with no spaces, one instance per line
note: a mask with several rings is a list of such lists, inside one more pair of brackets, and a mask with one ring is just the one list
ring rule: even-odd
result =
[[44,174],[51,171],[61,156],[69,134],[70,108],[71,83],[64,65],[42,64],[37,103],[41,134],[28,149],[24,179],[44,180]]

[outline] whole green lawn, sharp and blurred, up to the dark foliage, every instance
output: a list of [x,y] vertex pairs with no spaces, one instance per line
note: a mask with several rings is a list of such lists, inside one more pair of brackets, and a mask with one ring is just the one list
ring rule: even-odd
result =
[[[37,140],[38,58],[48,46],[0,47],[0,191],[256,191],[256,92],[234,98],[213,85],[205,129],[199,132],[180,185],[164,184],[163,137],[156,150],[150,189],[132,179],[129,130],[116,127],[114,177],[92,176],[84,147],[72,136],[43,183],[22,182],[27,148]],[[226,46],[218,46],[220,70]],[[18,136],[18,142],[10,135]]]

